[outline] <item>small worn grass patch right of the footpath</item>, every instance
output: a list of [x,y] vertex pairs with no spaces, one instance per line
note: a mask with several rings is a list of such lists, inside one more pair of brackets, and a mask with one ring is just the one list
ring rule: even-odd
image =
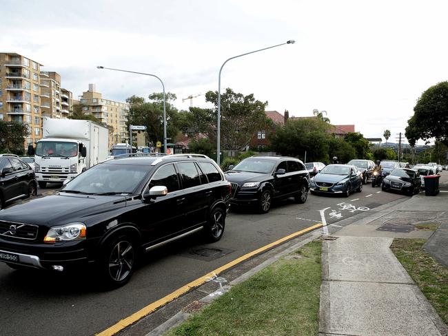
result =
[[425,242],[425,239],[394,239],[391,249],[443,322],[448,324],[448,268],[423,249]]

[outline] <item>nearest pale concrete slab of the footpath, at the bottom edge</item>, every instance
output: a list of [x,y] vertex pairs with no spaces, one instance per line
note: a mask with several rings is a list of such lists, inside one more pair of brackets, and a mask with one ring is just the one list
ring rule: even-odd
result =
[[324,335],[445,335],[415,285],[324,281],[322,294],[326,298],[320,308],[326,313],[320,316],[319,331]]

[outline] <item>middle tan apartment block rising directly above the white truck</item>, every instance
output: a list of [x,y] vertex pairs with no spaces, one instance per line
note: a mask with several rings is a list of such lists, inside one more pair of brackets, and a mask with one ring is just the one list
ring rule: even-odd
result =
[[61,76],[57,72],[40,72],[42,116],[68,118],[73,107],[72,92],[61,88]]

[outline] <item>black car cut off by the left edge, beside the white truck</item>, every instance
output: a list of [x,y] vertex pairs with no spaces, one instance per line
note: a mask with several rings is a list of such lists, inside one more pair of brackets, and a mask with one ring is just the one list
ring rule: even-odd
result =
[[34,170],[14,154],[0,154],[0,209],[37,193]]

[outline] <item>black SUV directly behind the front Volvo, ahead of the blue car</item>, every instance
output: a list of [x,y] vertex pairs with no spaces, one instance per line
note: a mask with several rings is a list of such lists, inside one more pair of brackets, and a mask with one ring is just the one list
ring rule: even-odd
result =
[[305,203],[309,190],[309,174],[296,158],[251,156],[230,166],[225,177],[232,183],[235,205],[255,205],[262,213],[269,211],[272,200],[294,196]]

